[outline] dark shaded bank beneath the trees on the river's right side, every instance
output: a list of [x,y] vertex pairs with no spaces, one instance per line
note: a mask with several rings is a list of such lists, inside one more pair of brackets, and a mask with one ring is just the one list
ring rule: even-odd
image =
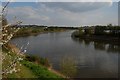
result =
[[115,36],[107,36],[107,35],[94,35],[94,34],[81,34],[78,31],[75,31],[71,35],[72,38],[79,38],[83,40],[89,40],[89,41],[95,41],[95,42],[104,42],[104,43],[110,43],[114,45],[120,45],[119,37]]

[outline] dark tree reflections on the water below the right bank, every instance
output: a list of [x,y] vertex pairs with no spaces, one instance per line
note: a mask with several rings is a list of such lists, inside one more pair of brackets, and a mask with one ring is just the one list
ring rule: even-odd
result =
[[83,44],[85,46],[94,45],[95,50],[103,50],[106,52],[113,52],[113,53],[120,53],[120,45],[109,43],[109,41],[92,41],[89,39],[80,39],[80,38],[72,38],[74,41],[79,42],[80,44]]

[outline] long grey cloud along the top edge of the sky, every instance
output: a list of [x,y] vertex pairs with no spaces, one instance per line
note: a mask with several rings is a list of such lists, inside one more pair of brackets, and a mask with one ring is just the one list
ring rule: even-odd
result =
[[110,2],[48,2],[41,3],[46,7],[53,9],[63,9],[70,12],[87,12],[102,8],[104,6],[110,6]]

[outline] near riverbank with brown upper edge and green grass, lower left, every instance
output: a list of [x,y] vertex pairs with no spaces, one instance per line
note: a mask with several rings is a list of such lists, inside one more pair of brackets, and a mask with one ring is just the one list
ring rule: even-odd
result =
[[27,60],[26,55],[21,53],[15,45],[8,44],[6,47],[8,50],[3,47],[3,71],[16,57],[22,60],[16,61],[16,67],[14,68],[16,72],[7,72],[7,74],[3,74],[3,78],[58,78],[64,80],[65,76],[50,67]]

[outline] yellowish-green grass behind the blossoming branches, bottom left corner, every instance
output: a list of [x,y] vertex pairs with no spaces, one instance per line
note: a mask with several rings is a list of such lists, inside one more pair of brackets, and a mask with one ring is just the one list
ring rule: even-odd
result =
[[[8,53],[9,52],[9,53]],[[3,60],[2,63],[2,69],[6,69],[8,68],[8,66],[10,65],[10,62],[13,61],[13,59],[18,56],[15,53],[12,53],[11,51],[5,49],[3,47],[3,53],[5,56],[5,59]],[[24,65],[20,66],[20,62],[16,63],[16,69],[20,69],[19,72],[13,72],[12,74],[7,74],[7,75],[3,75],[3,78],[36,78],[37,76],[33,74],[33,72],[31,70],[29,70],[29,68],[27,68]]]

